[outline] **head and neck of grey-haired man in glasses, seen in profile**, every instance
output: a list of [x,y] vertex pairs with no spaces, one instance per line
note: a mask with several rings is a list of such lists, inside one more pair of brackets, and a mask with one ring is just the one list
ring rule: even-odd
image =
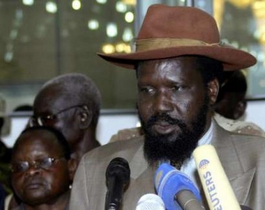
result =
[[100,92],[84,74],[63,74],[47,81],[33,103],[32,126],[54,127],[62,132],[78,162],[82,155],[100,146],[96,127]]

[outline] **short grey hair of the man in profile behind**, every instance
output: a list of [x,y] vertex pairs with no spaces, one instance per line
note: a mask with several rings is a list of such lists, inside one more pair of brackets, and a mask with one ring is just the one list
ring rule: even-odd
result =
[[79,73],[62,74],[47,81],[42,90],[49,86],[59,88],[62,95],[68,97],[70,101],[88,106],[93,113],[92,123],[94,125],[98,123],[101,105],[100,91],[88,76]]

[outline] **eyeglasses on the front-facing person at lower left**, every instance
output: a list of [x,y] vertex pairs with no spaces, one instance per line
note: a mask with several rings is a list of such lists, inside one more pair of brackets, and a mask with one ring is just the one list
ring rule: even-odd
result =
[[12,172],[26,172],[29,170],[31,166],[33,166],[36,169],[44,169],[47,170],[49,169],[53,164],[57,163],[61,159],[65,159],[64,157],[54,159],[51,157],[47,157],[45,159],[39,159],[36,161],[20,161],[20,162],[15,162],[11,163],[11,171]]

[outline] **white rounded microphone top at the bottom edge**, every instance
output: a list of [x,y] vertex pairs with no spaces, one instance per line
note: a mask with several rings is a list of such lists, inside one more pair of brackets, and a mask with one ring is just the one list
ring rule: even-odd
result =
[[165,204],[161,197],[149,193],[140,197],[135,210],[165,210]]

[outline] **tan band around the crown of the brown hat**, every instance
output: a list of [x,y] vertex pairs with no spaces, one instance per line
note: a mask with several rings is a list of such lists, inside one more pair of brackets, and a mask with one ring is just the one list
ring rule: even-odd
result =
[[220,43],[209,44],[200,40],[181,39],[181,38],[150,38],[143,40],[136,40],[136,51],[147,51],[152,49],[161,49],[168,47],[182,47],[182,46],[218,46]]

